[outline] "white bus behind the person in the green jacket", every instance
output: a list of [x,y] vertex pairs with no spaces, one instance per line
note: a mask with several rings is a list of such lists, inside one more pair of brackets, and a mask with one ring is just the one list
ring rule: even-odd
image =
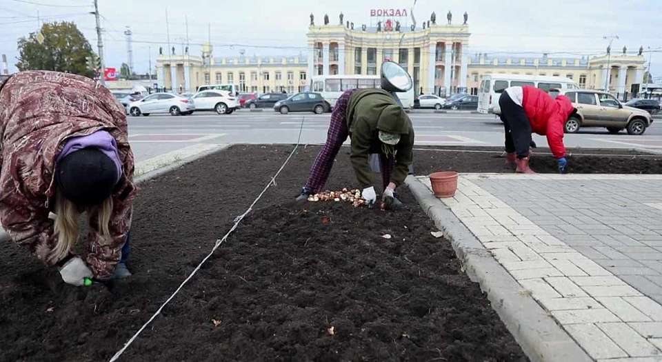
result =
[[[310,92],[318,92],[329,102],[331,107],[345,90],[354,88],[381,88],[378,75],[319,75],[310,79]],[[414,108],[414,88],[408,92],[397,93],[403,108]]]

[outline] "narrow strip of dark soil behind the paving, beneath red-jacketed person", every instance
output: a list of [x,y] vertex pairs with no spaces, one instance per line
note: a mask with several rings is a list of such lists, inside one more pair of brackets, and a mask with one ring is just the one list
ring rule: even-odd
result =
[[[467,152],[471,151],[471,152]],[[478,151],[478,152],[477,152]],[[414,151],[414,172],[430,174],[436,171],[514,172],[505,166],[503,148],[417,146]],[[576,174],[661,174],[662,155],[631,150],[594,150],[568,148],[568,173]],[[590,154],[590,155],[585,155]],[[547,148],[536,148],[530,156],[535,172],[558,173],[556,159]]]

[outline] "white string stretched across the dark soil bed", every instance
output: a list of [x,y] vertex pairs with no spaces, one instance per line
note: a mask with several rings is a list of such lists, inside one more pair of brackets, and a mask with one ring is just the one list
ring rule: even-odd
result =
[[290,155],[288,156],[288,158],[285,159],[285,162],[283,162],[283,165],[281,165],[281,168],[279,168],[279,170],[276,172],[276,174],[274,174],[274,177],[272,177],[272,178],[269,180],[269,183],[267,183],[267,185],[264,187],[264,189],[262,190],[262,192],[260,192],[260,194],[258,195],[258,197],[253,201],[253,203],[250,204],[250,206],[248,207],[248,210],[246,210],[243,214],[239,215],[239,217],[237,217],[237,218],[235,219],[235,221],[234,221],[234,225],[232,225],[232,228],[230,228],[230,230],[229,230],[229,231],[223,236],[222,239],[219,239],[219,240],[216,241],[216,243],[214,244],[214,248],[212,248],[212,251],[210,251],[209,254],[207,254],[207,256],[204,257],[204,259],[202,259],[202,261],[198,264],[197,267],[195,267],[195,269],[191,272],[191,274],[190,274],[186,279],[184,279],[184,281],[181,282],[181,284],[179,285],[179,287],[177,288],[177,290],[175,290],[175,291],[172,293],[172,295],[170,295],[170,297],[169,297],[168,299],[166,299],[165,302],[163,302],[163,304],[161,304],[161,307],[159,307],[159,309],[158,309],[156,312],[154,312],[154,314],[150,317],[150,319],[148,319],[148,321],[146,321],[145,324],[143,324],[143,326],[138,330],[138,332],[136,332],[136,333],[135,333],[135,334],[134,334],[134,335],[133,335],[133,336],[132,336],[132,337],[131,337],[131,338],[130,338],[125,344],[124,344],[124,346],[121,348],[121,350],[117,351],[117,353],[115,353],[114,356],[112,356],[112,358],[110,359],[110,362],[117,361],[117,359],[119,359],[119,357],[120,357],[120,356],[126,351],[126,349],[127,349],[127,348],[128,348],[128,347],[129,347],[129,346],[130,346],[130,345],[131,345],[131,344],[132,344],[137,338],[138,338],[138,336],[143,332],[143,330],[145,330],[145,328],[147,328],[147,326],[148,326],[150,323],[152,323],[152,321],[154,321],[154,319],[156,319],[157,316],[158,316],[159,314],[161,314],[161,311],[163,310],[163,308],[165,308],[165,305],[168,305],[168,303],[170,303],[170,301],[172,301],[172,299],[174,299],[174,296],[176,296],[177,293],[179,293],[179,290],[181,290],[181,288],[183,288],[184,285],[186,285],[186,283],[188,283],[188,281],[190,281],[190,280],[193,278],[193,276],[195,275],[195,273],[197,273],[198,270],[200,270],[200,268],[202,267],[202,265],[203,265],[203,264],[204,264],[204,263],[205,263],[210,257],[212,257],[212,254],[214,254],[214,252],[219,248],[219,246],[221,246],[221,244],[222,244],[225,240],[228,239],[228,237],[230,236],[230,234],[232,234],[232,232],[234,232],[234,230],[237,229],[237,227],[239,226],[239,223],[241,223],[241,221],[243,220],[243,218],[246,217],[246,215],[248,215],[248,214],[251,212],[251,210],[253,209],[253,206],[254,206],[254,205],[255,205],[255,204],[261,199],[261,197],[263,196],[263,194],[265,194],[265,192],[267,192],[267,190],[271,187],[271,185],[274,185],[274,184],[275,184],[276,177],[278,177],[278,175],[281,173],[281,171],[283,170],[283,168],[285,168],[285,165],[288,164],[288,162],[290,161],[290,159],[291,159],[292,156],[294,155],[294,152],[296,152],[296,151],[297,151],[297,148],[299,148],[299,144],[301,144],[301,132],[303,132],[303,121],[305,121],[305,117],[301,117],[301,128],[299,128],[299,139],[297,139],[297,144],[294,145],[294,149],[292,150],[292,152],[290,152]]

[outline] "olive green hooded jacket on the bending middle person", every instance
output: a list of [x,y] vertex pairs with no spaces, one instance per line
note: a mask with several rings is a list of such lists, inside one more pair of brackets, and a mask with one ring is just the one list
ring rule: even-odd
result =
[[345,110],[345,121],[352,139],[352,166],[362,188],[374,185],[374,173],[370,170],[368,155],[382,153],[379,131],[401,134],[395,145],[395,167],[390,181],[401,185],[412,164],[414,128],[412,121],[393,99],[390,93],[381,89],[357,90],[350,97]]

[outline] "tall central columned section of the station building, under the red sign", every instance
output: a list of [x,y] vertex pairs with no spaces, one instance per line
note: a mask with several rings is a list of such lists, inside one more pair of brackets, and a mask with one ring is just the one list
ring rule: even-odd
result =
[[[312,16],[311,16],[312,17]],[[450,93],[467,88],[469,43],[466,23],[449,20],[438,24],[436,15],[418,28],[401,27],[385,19],[377,27],[353,23],[326,23],[308,27],[308,73],[379,74],[383,61],[394,61],[408,70],[419,93]],[[342,22],[342,20],[341,20]]]

